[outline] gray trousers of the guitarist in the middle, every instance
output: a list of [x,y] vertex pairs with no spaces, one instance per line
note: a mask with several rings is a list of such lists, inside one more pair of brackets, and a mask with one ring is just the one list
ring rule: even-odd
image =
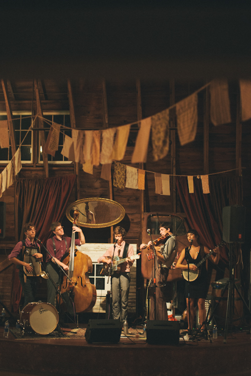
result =
[[121,322],[127,318],[130,273],[114,273],[111,278],[113,319]]

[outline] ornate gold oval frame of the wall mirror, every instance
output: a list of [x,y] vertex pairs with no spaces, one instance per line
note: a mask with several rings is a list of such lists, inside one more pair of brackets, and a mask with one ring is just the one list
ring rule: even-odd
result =
[[83,211],[85,211],[85,209],[83,209],[81,207],[81,204],[90,204],[90,203],[93,203],[93,202],[102,203],[103,205],[107,203],[109,206],[112,205],[116,209],[119,209],[120,215],[116,219],[113,219],[110,222],[104,222],[104,223],[93,224],[93,223],[85,223],[85,222],[79,221],[79,225],[82,226],[82,227],[89,227],[89,228],[93,228],[93,229],[95,229],[95,228],[98,229],[98,228],[102,228],[102,227],[110,227],[110,226],[113,226],[113,225],[119,223],[120,221],[122,221],[122,219],[124,218],[124,215],[126,214],[124,208],[120,204],[116,203],[113,200],[101,199],[101,198],[90,198],[90,199],[77,200],[74,203],[72,203],[71,205],[69,205],[68,208],[66,209],[66,217],[68,218],[68,220],[70,222],[73,222],[73,217],[71,216],[70,212],[74,211],[76,209],[80,213],[83,213]]

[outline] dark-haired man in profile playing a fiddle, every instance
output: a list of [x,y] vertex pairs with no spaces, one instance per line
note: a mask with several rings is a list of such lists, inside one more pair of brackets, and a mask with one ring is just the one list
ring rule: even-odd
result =
[[[150,320],[168,320],[167,314],[167,286],[166,281],[169,274],[169,269],[175,260],[178,246],[177,240],[172,233],[171,223],[165,222],[160,225],[160,234],[163,238],[163,243],[160,247],[156,247],[156,256],[160,268],[157,264],[155,265],[156,273],[156,312],[155,312],[155,301],[154,295],[150,294],[151,307],[150,307]],[[152,247],[152,242],[150,241],[147,245]],[[145,248],[146,244],[140,246],[141,249]],[[169,292],[170,293],[170,292]]]

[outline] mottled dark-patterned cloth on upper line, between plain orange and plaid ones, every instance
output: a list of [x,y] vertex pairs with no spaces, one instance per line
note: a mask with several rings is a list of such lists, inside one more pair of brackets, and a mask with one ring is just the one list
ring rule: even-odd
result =
[[169,110],[152,116],[152,144],[154,160],[164,158],[169,150]]

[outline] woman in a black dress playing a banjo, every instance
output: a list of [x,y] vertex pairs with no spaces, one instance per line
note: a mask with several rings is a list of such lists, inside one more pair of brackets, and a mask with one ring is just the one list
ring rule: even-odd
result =
[[[200,324],[202,324],[206,319],[206,309],[205,309],[205,299],[208,291],[208,281],[207,281],[207,269],[206,263],[202,263],[201,267],[198,269],[196,265],[205,256],[209,256],[212,251],[209,251],[207,247],[204,247],[200,244],[199,234],[196,230],[189,230],[187,232],[187,239],[190,243],[190,246],[184,248],[180,254],[180,257],[177,261],[176,268],[183,270],[183,275],[188,274],[188,265],[189,264],[189,282],[186,282],[186,303],[187,303],[187,317],[188,317],[188,332],[191,333],[193,330],[194,322],[194,302],[198,300],[198,309],[199,309],[199,319]],[[208,257],[214,264],[219,262],[219,247],[213,249],[213,254],[210,254]],[[183,265],[183,261],[186,260],[187,264]],[[192,278],[190,278],[192,275]],[[188,278],[185,277],[186,280]],[[189,310],[189,299],[188,293],[190,294],[190,310]],[[190,315],[189,315],[190,312]],[[189,317],[191,316],[191,317]],[[204,325],[201,327],[201,331],[204,330]]]

